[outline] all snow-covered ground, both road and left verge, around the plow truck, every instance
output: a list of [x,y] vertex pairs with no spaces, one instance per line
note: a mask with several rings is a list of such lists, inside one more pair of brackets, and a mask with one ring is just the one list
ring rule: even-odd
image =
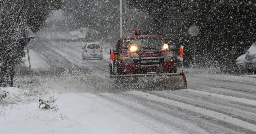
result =
[[[34,40],[31,90],[1,88],[0,130],[4,133],[256,133],[255,75],[217,74],[185,68],[188,89],[169,90],[123,86],[109,78],[109,55],[83,60],[85,42]],[[51,71],[55,70],[55,71]],[[59,70],[59,71],[56,71]],[[38,69],[37,71],[40,71]],[[178,69],[180,71],[180,68]],[[24,86],[23,86],[24,87]],[[46,93],[41,93],[45,92]],[[39,108],[39,98],[58,109]]]

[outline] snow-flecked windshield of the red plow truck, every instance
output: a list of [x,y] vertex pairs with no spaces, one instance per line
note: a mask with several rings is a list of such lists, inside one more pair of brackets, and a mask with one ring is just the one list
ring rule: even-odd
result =
[[129,47],[132,45],[136,45],[139,51],[161,50],[163,41],[160,38],[123,40],[122,53],[129,52]]

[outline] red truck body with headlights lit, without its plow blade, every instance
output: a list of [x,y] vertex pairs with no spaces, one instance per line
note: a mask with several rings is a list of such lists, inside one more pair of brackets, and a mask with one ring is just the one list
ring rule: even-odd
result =
[[123,37],[111,51],[114,60],[109,66],[110,75],[176,73],[177,70],[172,50],[160,36]]

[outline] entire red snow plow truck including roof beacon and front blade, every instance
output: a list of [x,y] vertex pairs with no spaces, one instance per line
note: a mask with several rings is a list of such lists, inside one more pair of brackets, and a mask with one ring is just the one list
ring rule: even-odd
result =
[[175,59],[163,38],[141,35],[136,30],[135,36],[120,38],[116,48],[110,49],[110,78],[118,78],[116,82],[140,81],[139,84],[151,83],[168,89],[187,88],[185,74],[183,70],[177,73]]

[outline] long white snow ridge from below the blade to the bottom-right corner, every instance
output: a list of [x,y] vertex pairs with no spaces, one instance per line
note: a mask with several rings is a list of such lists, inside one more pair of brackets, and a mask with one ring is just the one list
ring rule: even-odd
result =
[[144,93],[144,92],[140,92],[140,91],[129,91],[127,93],[129,93],[131,95],[135,95],[135,96],[140,96],[140,97],[145,98],[145,99],[149,99],[149,100],[153,100],[153,101],[159,101],[159,102],[169,104],[169,105],[172,105],[172,106],[175,106],[175,107],[180,107],[180,108],[183,108],[183,109],[187,109],[187,110],[190,110],[192,112],[203,114],[203,115],[206,115],[206,116],[209,116],[209,117],[212,117],[212,118],[215,118],[215,119],[218,119],[218,120],[221,120],[221,121],[224,121],[224,122],[227,122],[227,123],[239,126],[239,127],[243,127],[245,129],[247,129],[248,131],[250,131],[251,133],[256,133],[256,125],[248,123],[246,121],[242,121],[242,120],[237,119],[237,118],[227,116],[227,115],[222,114],[222,113],[218,113],[218,112],[215,112],[215,111],[211,111],[211,110],[196,107],[196,106],[193,106],[193,105],[185,104],[183,102],[162,98],[162,97],[159,97],[159,96],[156,96],[156,95],[152,95],[152,94]]

